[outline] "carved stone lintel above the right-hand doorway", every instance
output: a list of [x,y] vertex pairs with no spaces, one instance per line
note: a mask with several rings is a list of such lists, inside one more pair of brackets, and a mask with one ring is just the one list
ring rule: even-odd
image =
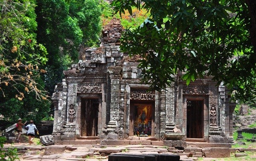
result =
[[183,94],[187,95],[208,95],[209,88],[208,86],[192,85],[192,86],[183,86]]

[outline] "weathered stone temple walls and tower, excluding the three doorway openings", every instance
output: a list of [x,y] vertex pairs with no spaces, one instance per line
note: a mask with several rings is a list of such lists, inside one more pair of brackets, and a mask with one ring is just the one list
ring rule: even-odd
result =
[[[99,103],[95,138],[101,140],[133,138],[131,103],[143,102],[154,108],[151,137],[184,141],[187,100],[199,100],[203,103],[201,141],[226,141],[224,137],[231,131],[232,109],[229,109],[224,86],[216,87],[211,77],[195,80],[186,86],[186,82],[180,79],[183,75],[180,72],[174,76],[177,81],[166,90],[147,91],[149,85],[140,82],[142,70],[138,68],[138,60],[142,58],[140,55],[130,57],[120,51],[121,33],[120,20],[114,18],[102,31],[100,47],[81,49],[79,62],[64,71],[65,79],[58,83],[52,96],[55,140],[85,137],[81,131],[82,100],[93,98]],[[216,117],[211,117],[211,106],[216,107]]]

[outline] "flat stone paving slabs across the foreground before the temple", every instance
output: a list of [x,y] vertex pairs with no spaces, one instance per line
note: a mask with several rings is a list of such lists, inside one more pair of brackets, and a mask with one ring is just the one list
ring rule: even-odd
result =
[[241,152],[256,152],[255,149],[244,148],[199,148],[185,147],[177,150],[174,147],[128,145],[128,146],[100,146],[100,145],[28,145],[28,144],[5,144],[8,147],[17,148],[20,161],[108,161],[109,155],[179,155],[180,161],[194,161],[198,158],[224,158],[231,153],[237,153],[236,157],[246,156]]

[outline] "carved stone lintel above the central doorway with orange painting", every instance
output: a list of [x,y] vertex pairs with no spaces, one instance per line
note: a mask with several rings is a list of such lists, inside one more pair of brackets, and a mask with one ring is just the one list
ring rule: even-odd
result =
[[155,93],[146,89],[131,89],[130,97],[131,100],[155,100]]

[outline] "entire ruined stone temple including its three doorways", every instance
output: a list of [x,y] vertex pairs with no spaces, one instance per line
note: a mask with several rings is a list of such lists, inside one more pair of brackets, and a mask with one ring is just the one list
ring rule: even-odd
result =
[[121,32],[120,21],[111,20],[101,47],[84,49],[79,63],[64,71],[52,96],[54,144],[183,147],[233,141],[235,104],[225,86],[216,86],[211,77],[186,86],[179,73],[166,90],[148,92],[140,83],[140,56],[120,52]]

